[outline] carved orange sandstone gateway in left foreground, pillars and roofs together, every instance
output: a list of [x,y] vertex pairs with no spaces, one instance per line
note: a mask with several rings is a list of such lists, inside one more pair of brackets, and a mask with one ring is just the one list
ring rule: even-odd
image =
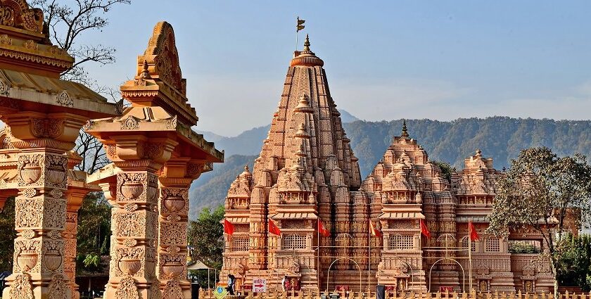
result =
[[[74,58],[51,45],[41,9],[2,0],[0,11],[0,208],[15,196],[17,232],[2,298],[80,298],[77,210],[91,191],[113,205],[105,298],[190,298],[189,186],[224,154],[191,129],[198,117],[172,26],[154,27],[134,79],[120,88],[125,107],[60,79]],[[103,143],[112,164],[73,170],[80,129]]]

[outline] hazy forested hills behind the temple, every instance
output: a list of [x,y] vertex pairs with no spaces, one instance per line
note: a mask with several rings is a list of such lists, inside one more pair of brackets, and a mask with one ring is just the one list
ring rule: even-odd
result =
[[[393,136],[400,135],[402,120],[389,122],[355,121],[343,124],[351,146],[359,158],[362,178],[380,160]],[[464,158],[473,155],[476,148],[487,158],[493,158],[495,168],[508,167],[522,148],[548,146],[559,155],[583,153],[591,155],[590,120],[534,120],[510,117],[462,118],[451,122],[438,120],[407,120],[411,138],[417,139],[431,160],[448,162],[458,169],[464,167]],[[252,165],[260,152],[262,140],[269,127],[226,137],[224,146],[232,153],[223,165],[203,174],[191,188],[191,214],[196,217],[205,206],[215,207],[224,201],[231,182],[242,172],[244,165]],[[233,140],[235,139],[235,140]],[[234,143],[234,141],[236,141]],[[233,146],[236,144],[236,146]],[[216,144],[218,148],[218,144]],[[243,148],[243,150],[241,150]],[[222,147],[223,149],[223,147]]]

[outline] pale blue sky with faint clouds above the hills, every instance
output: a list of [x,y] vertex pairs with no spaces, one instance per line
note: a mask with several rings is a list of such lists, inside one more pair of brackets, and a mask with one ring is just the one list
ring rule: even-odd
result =
[[174,27],[193,129],[235,136],[271,122],[295,49],[295,18],[324,60],[338,108],[362,120],[583,120],[591,111],[591,1],[155,1],[108,12],[80,44],[100,84],[135,75],[158,21]]

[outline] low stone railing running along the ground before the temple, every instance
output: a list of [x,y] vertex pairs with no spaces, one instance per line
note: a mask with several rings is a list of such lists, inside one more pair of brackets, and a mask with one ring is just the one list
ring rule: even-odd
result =
[[[215,295],[212,293],[212,289],[201,289],[199,291],[199,298],[202,299],[215,299]],[[326,293],[317,293],[315,291],[282,291],[282,292],[267,292],[267,293],[248,293],[247,295],[227,295],[224,299],[321,299]],[[360,292],[334,292],[326,296],[327,299],[335,298],[333,296],[338,295],[339,299],[376,299],[376,293]],[[554,299],[552,293],[506,293],[506,292],[495,292],[495,293],[457,293],[457,292],[437,292],[427,293],[421,291],[410,291],[410,292],[396,292],[386,291],[386,299]],[[591,299],[591,293],[560,293],[557,299]]]

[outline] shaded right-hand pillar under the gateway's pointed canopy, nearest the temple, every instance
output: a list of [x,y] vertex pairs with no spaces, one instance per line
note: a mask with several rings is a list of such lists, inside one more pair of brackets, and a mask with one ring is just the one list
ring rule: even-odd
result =
[[205,161],[190,158],[168,160],[160,181],[160,226],[158,231],[158,279],[164,299],[191,297],[186,279],[189,187],[203,170]]

